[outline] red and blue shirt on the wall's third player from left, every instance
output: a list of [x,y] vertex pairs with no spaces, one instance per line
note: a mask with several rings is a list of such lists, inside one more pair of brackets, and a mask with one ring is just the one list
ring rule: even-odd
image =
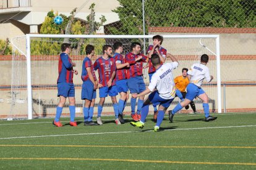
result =
[[[108,57],[108,59],[103,59],[103,57],[98,58],[95,63],[93,63],[94,70],[98,70],[99,73],[99,83],[103,87],[108,86],[108,81],[111,78],[114,71],[116,71],[116,64],[113,57]],[[114,81],[112,82],[112,86]]]

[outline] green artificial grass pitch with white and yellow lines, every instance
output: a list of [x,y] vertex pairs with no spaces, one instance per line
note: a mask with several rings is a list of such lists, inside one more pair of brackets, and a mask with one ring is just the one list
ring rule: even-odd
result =
[[[256,113],[165,117],[160,132],[148,116],[144,129],[117,126],[54,127],[53,119],[0,121],[1,169],[256,169]],[[129,118],[128,118],[129,117]]]

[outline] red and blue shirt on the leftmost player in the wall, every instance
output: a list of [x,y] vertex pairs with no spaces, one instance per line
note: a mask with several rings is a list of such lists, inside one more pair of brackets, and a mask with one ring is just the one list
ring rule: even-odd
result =
[[73,67],[72,60],[69,55],[62,52],[59,55],[59,76],[57,83],[73,83]]

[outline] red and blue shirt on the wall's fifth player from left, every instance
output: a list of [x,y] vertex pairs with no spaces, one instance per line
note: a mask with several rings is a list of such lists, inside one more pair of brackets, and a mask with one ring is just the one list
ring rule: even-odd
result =
[[[142,59],[135,62],[135,59],[142,56]],[[126,54],[126,62],[130,64],[129,69],[127,69],[126,76],[127,79],[133,78],[135,76],[142,76],[143,62],[147,62],[148,57],[143,54],[133,54],[129,52]]]

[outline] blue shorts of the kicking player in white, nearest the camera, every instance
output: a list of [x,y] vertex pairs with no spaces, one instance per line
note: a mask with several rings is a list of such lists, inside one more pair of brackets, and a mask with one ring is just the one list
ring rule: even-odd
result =
[[171,105],[171,102],[173,102],[173,99],[163,99],[159,96],[158,91],[152,92],[150,95],[148,95],[148,99],[152,103],[152,105],[162,105],[165,108],[168,108]]

